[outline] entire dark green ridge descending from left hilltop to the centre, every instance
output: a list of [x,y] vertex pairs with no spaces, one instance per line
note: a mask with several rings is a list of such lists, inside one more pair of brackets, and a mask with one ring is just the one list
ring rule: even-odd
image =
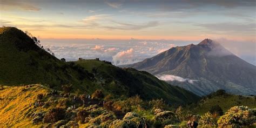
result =
[[177,104],[199,99],[144,71],[122,69],[100,60],[63,62],[17,28],[0,29],[0,65],[0,85],[43,84],[62,90],[62,85],[71,84],[76,93],[91,94],[102,89],[115,97],[140,95],[143,99],[163,98]]

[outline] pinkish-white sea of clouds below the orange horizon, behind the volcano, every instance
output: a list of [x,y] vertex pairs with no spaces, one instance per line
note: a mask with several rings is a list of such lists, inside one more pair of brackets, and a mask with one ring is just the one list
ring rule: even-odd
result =
[[[57,58],[68,61],[99,58],[114,65],[125,65],[140,62],[160,52],[175,46],[198,44],[200,41],[172,41],[172,40],[111,40],[111,39],[41,39],[44,48],[50,48]],[[235,42],[219,39],[226,49],[235,55],[256,64],[255,42]],[[248,47],[250,45],[250,47]]]

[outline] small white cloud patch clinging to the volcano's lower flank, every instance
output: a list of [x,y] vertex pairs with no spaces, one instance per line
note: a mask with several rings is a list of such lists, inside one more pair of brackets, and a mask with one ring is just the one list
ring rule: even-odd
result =
[[174,75],[157,75],[157,78],[164,80],[164,81],[188,82],[190,84],[193,84],[194,82],[198,81],[195,79],[182,78],[182,77],[174,76]]

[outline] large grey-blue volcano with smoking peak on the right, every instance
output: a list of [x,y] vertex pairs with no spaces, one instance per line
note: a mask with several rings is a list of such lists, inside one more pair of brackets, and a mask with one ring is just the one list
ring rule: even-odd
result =
[[126,66],[150,72],[200,96],[219,89],[240,95],[256,93],[256,66],[211,39],[177,46]]

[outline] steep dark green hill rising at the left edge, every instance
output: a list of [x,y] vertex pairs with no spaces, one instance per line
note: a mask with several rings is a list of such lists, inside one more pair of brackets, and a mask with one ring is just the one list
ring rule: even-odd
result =
[[[0,34],[0,84],[62,84],[78,83],[89,79],[81,76],[76,68],[60,61],[39,48],[21,30],[11,27],[1,28]],[[75,84],[77,85],[77,84]]]

